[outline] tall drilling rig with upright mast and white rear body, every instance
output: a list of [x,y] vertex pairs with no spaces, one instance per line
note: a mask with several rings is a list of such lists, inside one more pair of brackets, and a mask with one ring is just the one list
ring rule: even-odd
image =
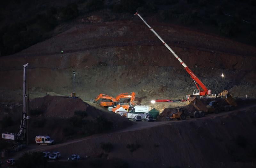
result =
[[23,112],[22,112],[22,119],[20,123],[20,129],[17,134],[10,133],[10,134],[2,134],[3,139],[9,139],[9,140],[17,140],[17,141],[23,141],[25,140],[25,137],[27,137],[27,143],[29,139],[28,135],[28,103],[29,103],[29,97],[27,95],[27,66],[28,63],[23,65]]

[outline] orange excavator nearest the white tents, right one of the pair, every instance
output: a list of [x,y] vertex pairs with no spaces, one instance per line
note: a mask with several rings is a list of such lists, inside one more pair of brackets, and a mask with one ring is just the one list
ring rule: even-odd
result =
[[[135,105],[135,92],[130,92],[130,93],[121,93],[119,95],[116,96],[116,101],[117,101],[117,105],[115,108],[112,108],[112,111],[113,112],[116,112],[116,110],[120,107],[123,107],[124,109],[129,109],[132,105]],[[130,102],[129,104],[123,104],[123,103],[120,103],[120,99],[123,99],[123,98],[130,98]]]

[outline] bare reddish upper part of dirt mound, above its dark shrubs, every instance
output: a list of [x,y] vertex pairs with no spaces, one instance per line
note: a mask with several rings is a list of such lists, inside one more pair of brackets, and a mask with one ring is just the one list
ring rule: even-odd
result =
[[[95,103],[84,102],[80,98],[69,98],[63,96],[44,96],[43,98],[35,98],[30,102],[30,110],[41,112],[44,117],[60,117],[70,118],[74,116],[76,111],[84,111],[87,117],[91,119],[104,116],[108,120],[119,122],[128,121],[116,113],[99,108]],[[93,106],[95,104],[96,108]]]

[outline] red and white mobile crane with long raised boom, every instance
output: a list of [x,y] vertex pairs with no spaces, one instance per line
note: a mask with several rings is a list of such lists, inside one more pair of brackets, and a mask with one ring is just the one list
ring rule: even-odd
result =
[[[155,32],[155,30],[150,27],[147,22],[140,16],[138,11],[134,14],[138,15],[141,20],[148,26],[148,28],[163,42],[163,44],[171,51],[171,53],[176,57],[176,59],[180,62],[180,64],[185,68],[185,70],[188,72],[188,74],[191,76],[193,79],[194,83],[196,84],[197,89],[194,90],[193,95],[198,95],[198,96],[206,96],[206,95],[211,95],[211,90],[208,90],[207,87],[201,82],[198,77],[188,68],[188,66],[174,53],[174,51],[164,42],[164,40]],[[202,88],[200,89],[199,86]]]

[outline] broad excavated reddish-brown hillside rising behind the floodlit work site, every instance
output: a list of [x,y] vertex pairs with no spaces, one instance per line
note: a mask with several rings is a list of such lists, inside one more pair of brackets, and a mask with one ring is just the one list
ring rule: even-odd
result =
[[[212,34],[145,18],[213,93],[256,97],[256,48]],[[22,99],[23,64],[28,66],[30,98],[67,96],[83,100],[99,93],[136,92],[149,99],[181,99],[196,86],[176,58],[139,17],[102,22],[79,18],[68,30],[20,53],[0,57],[0,101]],[[58,27],[56,28],[58,29]],[[61,54],[63,50],[63,54]],[[245,89],[246,88],[246,89]]]

